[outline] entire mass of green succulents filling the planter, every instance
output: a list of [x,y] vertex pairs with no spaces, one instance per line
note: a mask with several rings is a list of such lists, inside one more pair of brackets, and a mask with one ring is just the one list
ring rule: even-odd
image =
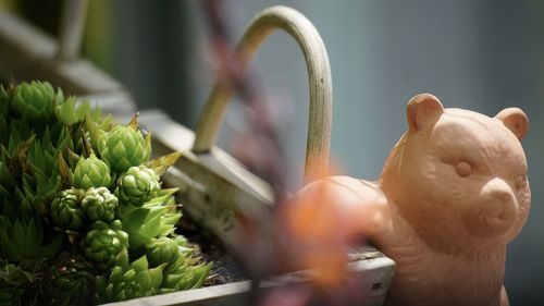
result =
[[176,189],[160,184],[181,154],[149,160],[150,140],[137,115],[116,125],[47,82],[0,85],[0,306],[202,283],[209,265],[175,233]]

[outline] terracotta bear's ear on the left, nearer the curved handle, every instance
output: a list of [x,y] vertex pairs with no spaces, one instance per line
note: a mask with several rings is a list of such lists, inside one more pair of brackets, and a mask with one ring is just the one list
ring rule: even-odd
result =
[[406,108],[410,131],[420,131],[434,124],[444,112],[441,101],[433,95],[420,94],[411,98]]

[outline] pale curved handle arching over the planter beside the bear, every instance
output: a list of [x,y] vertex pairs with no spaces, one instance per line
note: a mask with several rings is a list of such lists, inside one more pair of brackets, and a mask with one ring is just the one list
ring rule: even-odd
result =
[[[310,85],[310,118],[306,146],[305,181],[326,174],[331,146],[332,77],[326,49],[316,27],[302,14],[286,7],[271,7],[255,17],[237,45],[240,64],[246,69],[255,51],[272,33],[281,28],[300,46],[306,59]],[[233,95],[220,77],[208,97],[196,127],[193,151],[207,152],[222,123],[226,105]]]

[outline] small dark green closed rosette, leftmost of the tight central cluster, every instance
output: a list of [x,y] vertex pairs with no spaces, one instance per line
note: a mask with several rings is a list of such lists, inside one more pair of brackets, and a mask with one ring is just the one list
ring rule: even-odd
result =
[[77,191],[65,189],[51,203],[51,217],[54,224],[66,230],[78,230],[85,224]]

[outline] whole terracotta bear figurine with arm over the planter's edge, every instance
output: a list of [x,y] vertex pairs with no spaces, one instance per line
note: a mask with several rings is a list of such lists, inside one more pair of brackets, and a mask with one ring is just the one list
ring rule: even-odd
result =
[[506,245],[531,201],[526,114],[444,109],[422,94],[408,102],[407,120],[376,182],[326,178],[296,198],[320,193],[329,216],[342,215],[395,260],[385,305],[508,305]]

